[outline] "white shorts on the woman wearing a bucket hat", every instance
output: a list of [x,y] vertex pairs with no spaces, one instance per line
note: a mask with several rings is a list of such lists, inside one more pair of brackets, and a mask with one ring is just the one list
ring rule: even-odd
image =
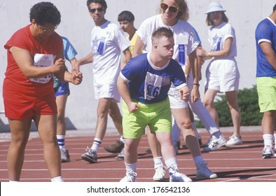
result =
[[238,90],[240,72],[235,58],[213,59],[206,69],[205,89],[229,92]]

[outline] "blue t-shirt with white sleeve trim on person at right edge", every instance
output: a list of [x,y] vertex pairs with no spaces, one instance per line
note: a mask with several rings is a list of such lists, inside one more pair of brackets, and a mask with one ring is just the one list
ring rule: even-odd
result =
[[272,49],[276,52],[276,24],[270,18],[265,18],[258,23],[255,31],[256,39],[256,56],[257,70],[256,77],[276,77],[276,71],[265,58],[261,46],[261,42],[271,43]]

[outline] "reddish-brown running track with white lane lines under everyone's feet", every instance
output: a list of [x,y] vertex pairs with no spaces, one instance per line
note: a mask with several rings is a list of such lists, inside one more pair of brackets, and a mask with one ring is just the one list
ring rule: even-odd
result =
[[[231,131],[223,131],[224,137],[228,139]],[[74,131],[75,132],[75,131]],[[92,131],[91,131],[92,132]],[[109,130],[107,130],[109,132]],[[112,144],[118,136],[106,135],[99,149],[98,163],[90,164],[81,160],[81,154],[85,152],[86,146],[91,146],[92,137],[71,134],[67,131],[66,145],[71,156],[71,162],[62,163],[62,177],[67,182],[118,182],[125,175],[123,160],[116,160],[116,155],[104,151],[104,146]],[[217,151],[205,153],[203,158],[208,166],[218,175],[218,179],[203,180],[201,182],[276,182],[276,158],[263,160],[261,151],[263,139],[259,127],[250,130],[242,127],[242,138],[244,144],[241,146],[227,148],[222,147]],[[78,136],[77,136],[78,134]],[[88,131],[89,135],[90,132]],[[3,135],[3,134],[1,134]],[[200,131],[202,141],[209,138],[206,131]],[[6,154],[10,139],[0,137],[0,181],[8,181],[6,167]],[[181,143],[183,142],[183,138]],[[146,137],[143,137],[139,146],[139,160],[137,164],[137,181],[152,182],[154,174],[151,153],[146,154],[148,148]],[[202,150],[202,148],[201,148]],[[188,149],[181,148],[177,155],[179,170],[195,179],[195,165]],[[167,175],[168,176],[168,175]],[[48,182],[50,176],[43,160],[41,141],[36,137],[30,137],[25,153],[21,179],[22,182]],[[168,179],[167,179],[168,181]]]

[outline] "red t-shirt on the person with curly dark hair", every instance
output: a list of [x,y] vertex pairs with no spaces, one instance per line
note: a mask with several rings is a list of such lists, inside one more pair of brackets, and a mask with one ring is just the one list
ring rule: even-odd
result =
[[[62,38],[54,31],[43,43],[34,39],[30,31],[30,25],[19,29],[11,36],[10,40],[4,45],[7,50],[12,46],[28,50],[34,60],[35,54],[53,55],[54,61],[57,53],[62,50]],[[3,85],[3,97],[8,102],[33,102],[36,100],[55,100],[53,90],[53,77],[48,83],[32,82],[25,76],[18,64],[15,62],[12,53],[8,50],[8,66],[6,78]]]

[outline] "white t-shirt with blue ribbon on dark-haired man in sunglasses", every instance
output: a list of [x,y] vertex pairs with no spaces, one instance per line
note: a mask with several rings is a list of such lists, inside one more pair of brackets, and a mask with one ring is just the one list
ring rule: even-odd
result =
[[123,31],[110,21],[95,26],[91,31],[94,83],[113,84],[120,73],[121,52],[130,46]]

